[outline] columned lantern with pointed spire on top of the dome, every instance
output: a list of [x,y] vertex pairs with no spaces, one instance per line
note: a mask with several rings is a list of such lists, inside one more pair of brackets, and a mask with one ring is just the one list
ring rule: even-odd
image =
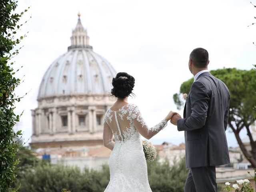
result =
[[68,47],[68,50],[76,49],[76,48],[92,49],[92,46],[89,45],[90,38],[87,35],[87,30],[84,29],[80,20],[81,14],[78,13],[77,15],[78,15],[78,21],[76,24],[76,28],[72,31],[72,36],[70,37],[71,46]]

